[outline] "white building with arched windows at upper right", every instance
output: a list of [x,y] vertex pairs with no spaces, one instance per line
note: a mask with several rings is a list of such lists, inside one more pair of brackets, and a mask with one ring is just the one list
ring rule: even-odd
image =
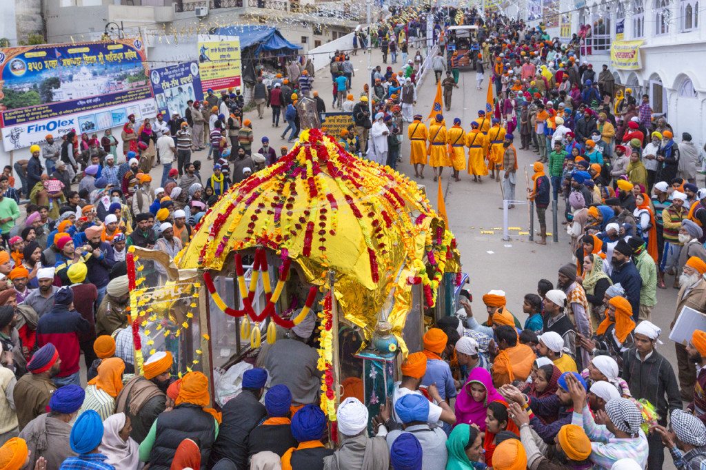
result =
[[[527,19],[530,1],[520,0],[520,17],[524,15]],[[557,0],[554,11],[560,16],[548,32],[551,37],[568,40],[581,25],[592,25],[594,34],[587,44],[590,54],[586,59],[594,64],[594,70],[600,71],[607,64],[616,83],[632,88],[638,102],[642,94],[650,96],[654,113],[666,115],[677,141],[681,140],[681,133],[688,132],[694,143],[702,147],[706,143],[706,18],[702,3],[699,0]],[[514,13],[518,8],[511,9]],[[530,25],[538,23],[531,21]],[[639,70],[618,70],[611,66],[610,47],[621,29],[622,40],[644,41]]]

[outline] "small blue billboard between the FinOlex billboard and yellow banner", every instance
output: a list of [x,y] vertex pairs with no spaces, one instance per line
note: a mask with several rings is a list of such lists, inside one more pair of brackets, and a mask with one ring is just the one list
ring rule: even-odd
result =
[[164,121],[169,121],[174,113],[185,116],[187,101],[203,101],[196,62],[153,68],[150,81],[157,101],[157,111],[164,114]]

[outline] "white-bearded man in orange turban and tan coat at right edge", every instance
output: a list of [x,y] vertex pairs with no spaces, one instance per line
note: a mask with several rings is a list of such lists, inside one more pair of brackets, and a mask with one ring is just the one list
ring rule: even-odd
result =
[[[676,311],[674,312],[674,320],[669,326],[670,328],[674,328],[676,318],[684,307],[706,312],[706,282],[703,279],[705,273],[706,263],[704,260],[696,256],[686,260],[682,268],[682,274],[679,276],[681,288],[676,298]],[[686,346],[676,343],[675,347],[681,398],[686,402],[691,402],[694,397],[696,369],[693,361],[689,360]]]

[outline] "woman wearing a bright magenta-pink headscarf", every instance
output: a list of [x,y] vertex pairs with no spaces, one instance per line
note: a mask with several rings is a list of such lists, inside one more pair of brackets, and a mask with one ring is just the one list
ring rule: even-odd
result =
[[456,397],[456,423],[476,424],[481,431],[485,431],[488,404],[496,400],[503,400],[503,397],[493,387],[493,378],[488,370],[474,368]]

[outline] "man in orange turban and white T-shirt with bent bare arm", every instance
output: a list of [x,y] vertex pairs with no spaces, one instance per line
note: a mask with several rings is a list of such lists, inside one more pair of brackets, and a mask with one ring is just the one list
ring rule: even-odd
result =
[[[436,328],[433,329],[436,330]],[[422,351],[409,354],[407,360],[402,363],[402,382],[395,384],[392,397],[393,418],[397,423],[402,424],[402,420],[395,412],[395,402],[407,394],[423,394],[419,391],[419,385],[426,375],[427,363],[426,354]],[[428,422],[443,421],[453,426],[456,423],[456,415],[448,403],[441,399],[436,385],[427,387],[426,394],[433,400],[429,403]]]

